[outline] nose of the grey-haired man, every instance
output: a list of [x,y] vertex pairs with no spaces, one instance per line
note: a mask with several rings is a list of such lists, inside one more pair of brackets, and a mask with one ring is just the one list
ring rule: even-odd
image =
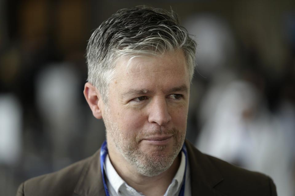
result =
[[149,123],[157,123],[160,126],[166,125],[171,121],[171,115],[168,111],[168,105],[165,98],[155,98],[149,108]]

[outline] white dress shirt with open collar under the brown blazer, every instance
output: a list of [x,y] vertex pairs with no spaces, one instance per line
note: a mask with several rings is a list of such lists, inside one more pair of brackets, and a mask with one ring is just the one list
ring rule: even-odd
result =
[[[191,195],[191,176],[190,176],[190,169],[189,164],[187,163],[187,171],[186,171],[186,181],[185,181],[185,196]],[[108,191],[111,196],[144,196],[142,193],[137,192],[134,188],[130,187],[116,172],[115,168],[112,166],[109,156],[106,156],[105,164],[104,164],[104,171],[107,176],[106,182],[108,186]],[[181,161],[179,168],[172,179],[171,184],[169,185],[168,189],[164,196],[178,196],[182,181],[183,175],[185,171],[185,155],[181,151]]]

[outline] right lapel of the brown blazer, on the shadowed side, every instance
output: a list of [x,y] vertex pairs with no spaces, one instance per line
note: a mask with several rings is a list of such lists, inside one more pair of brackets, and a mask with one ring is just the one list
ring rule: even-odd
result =
[[186,140],[185,143],[191,171],[191,194],[225,196],[214,190],[214,187],[223,180],[217,168],[191,142]]

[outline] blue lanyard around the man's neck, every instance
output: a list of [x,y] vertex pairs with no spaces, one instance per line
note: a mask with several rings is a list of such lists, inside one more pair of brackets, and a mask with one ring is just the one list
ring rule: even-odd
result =
[[[183,144],[181,151],[185,155],[185,170],[184,170],[183,183],[182,183],[182,186],[181,186],[181,189],[179,192],[179,196],[184,196],[185,176],[187,173],[187,147],[185,146],[185,144]],[[102,179],[103,179],[103,183],[104,183],[105,194],[107,196],[110,196],[110,194],[108,192],[107,183],[104,178],[104,161],[105,161],[105,157],[107,156],[107,154],[108,154],[107,141],[104,141],[104,143],[101,145],[101,148],[100,148],[100,170],[101,170],[101,175],[102,175]]]

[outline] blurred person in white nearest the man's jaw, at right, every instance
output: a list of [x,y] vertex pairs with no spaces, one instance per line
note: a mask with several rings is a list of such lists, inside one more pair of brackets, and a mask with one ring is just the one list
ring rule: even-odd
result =
[[[212,88],[210,95],[206,96],[202,104],[205,106],[201,111],[201,116],[205,116],[205,125],[200,137],[197,139],[196,145],[201,151],[208,154],[222,157],[223,159],[235,164],[248,160],[246,152],[240,152],[238,146],[247,139],[247,133],[244,134],[247,124],[255,109],[258,106],[258,93],[252,85],[246,81],[230,82],[226,88]],[[214,111],[210,110],[210,115],[206,112],[212,108],[206,102],[210,101],[208,97],[219,94],[217,103],[214,105]],[[251,146],[251,145],[249,145]],[[226,149],[226,150],[225,150]],[[236,160],[232,160],[232,157]],[[240,160],[245,159],[245,160]]]

